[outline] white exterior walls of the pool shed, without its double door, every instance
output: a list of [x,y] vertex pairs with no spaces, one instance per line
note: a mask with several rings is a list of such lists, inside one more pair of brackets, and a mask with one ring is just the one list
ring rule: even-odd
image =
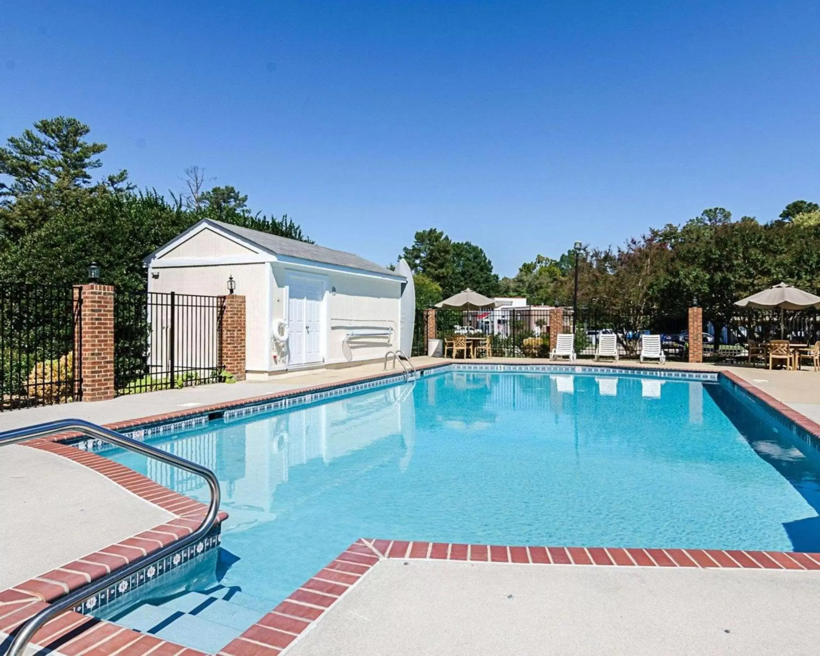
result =
[[[320,262],[281,262],[210,228],[155,257],[148,289],[221,296],[228,293],[228,278],[233,276],[235,293],[245,296],[246,369],[258,377],[288,367],[287,348],[276,347],[271,337],[273,321],[288,319],[289,272],[324,284],[321,356],[326,364],[383,358],[399,348],[402,280]],[[391,329],[392,335],[346,340],[348,331],[356,329]]]

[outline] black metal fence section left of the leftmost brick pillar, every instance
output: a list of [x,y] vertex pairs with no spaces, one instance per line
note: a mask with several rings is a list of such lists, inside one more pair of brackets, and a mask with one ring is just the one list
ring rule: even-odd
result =
[[80,290],[0,283],[0,412],[82,399]]

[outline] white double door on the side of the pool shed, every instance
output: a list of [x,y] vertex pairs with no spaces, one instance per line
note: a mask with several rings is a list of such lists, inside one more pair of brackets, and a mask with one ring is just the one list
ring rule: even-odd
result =
[[288,274],[289,367],[321,362],[325,283],[318,278]]

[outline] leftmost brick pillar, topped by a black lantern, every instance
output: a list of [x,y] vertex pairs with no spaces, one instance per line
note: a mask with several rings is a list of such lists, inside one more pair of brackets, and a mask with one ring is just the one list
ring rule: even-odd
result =
[[[80,285],[80,325],[75,330],[75,352],[81,363],[82,400],[114,398],[114,287]],[[75,292],[75,297],[78,292]],[[82,369],[80,369],[80,364]]]

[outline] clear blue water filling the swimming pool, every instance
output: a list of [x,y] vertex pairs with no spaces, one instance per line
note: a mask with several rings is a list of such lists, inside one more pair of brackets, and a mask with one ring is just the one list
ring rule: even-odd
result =
[[818,551],[818,458],[753,406],[718,384],[450,371],[153,444],[216,471],[217,577],[272,608],[359,537]]

